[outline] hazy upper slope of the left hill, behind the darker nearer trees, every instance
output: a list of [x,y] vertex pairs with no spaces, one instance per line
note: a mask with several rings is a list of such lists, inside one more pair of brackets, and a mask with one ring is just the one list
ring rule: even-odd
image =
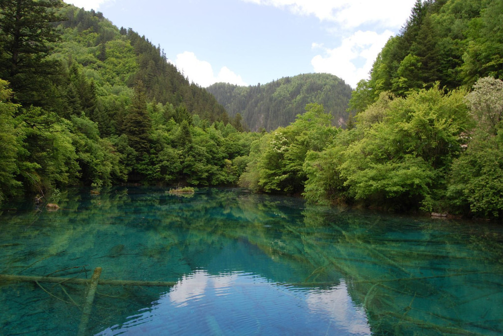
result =
[[[175,107],[182,104],[190,114],[210,122],[228,121],[223,106],[206,90],[189,83],[167,62],[164,51],[144,36],[140,37],[131,28],[117,29],[93,10],[66,6],[62,14],[65,21],[57,27],[61,37],[52,56],[70,71],[78,72],[81,66],[83,76],[94,85],[112,89],[115,95],[120,95],[121,88],[131,88],[141,81],[149,102]],[[102,121],[109,119],[113,118],[101,116]]]

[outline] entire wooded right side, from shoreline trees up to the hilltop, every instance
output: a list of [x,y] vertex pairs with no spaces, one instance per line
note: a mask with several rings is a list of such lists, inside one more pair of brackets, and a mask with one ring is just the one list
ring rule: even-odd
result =
[[254,142],[240,184],[316,202],[503,215],[503,0],[417,1],[358,84]]

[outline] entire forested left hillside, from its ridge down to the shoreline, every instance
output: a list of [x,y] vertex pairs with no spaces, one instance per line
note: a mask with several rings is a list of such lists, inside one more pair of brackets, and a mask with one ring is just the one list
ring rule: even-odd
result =
[[234,183],[254,137],[132,29],[59,0],[0,3],[0,201],[75,184]]

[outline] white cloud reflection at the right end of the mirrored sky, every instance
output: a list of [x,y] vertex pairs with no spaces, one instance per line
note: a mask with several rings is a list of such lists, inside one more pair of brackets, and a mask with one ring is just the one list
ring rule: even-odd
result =
[[312,312],[327,314],[338,324],[347,325],[350,334],[368,335],[371,333],[364,309],[355,307],[344,281],[329,290],[310,291],[306,302]]

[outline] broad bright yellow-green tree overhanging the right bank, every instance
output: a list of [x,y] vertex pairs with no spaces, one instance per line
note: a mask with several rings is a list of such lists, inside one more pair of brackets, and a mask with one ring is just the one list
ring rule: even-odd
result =
[[383,121],[346,151],[341,171],[350,193],[390,206],[441,206],[446,174],[471,127],[463,94],[435,87],[393,99]]

